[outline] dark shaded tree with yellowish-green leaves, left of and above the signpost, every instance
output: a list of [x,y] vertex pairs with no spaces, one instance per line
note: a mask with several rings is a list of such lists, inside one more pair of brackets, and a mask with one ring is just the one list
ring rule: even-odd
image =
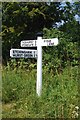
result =
[[[57,12],[58,4],[53,6]],[[3,58],[9,58],[10,48],[19,48],[21,40],[34,39],[44,26],[51,27],[57,19],[52,11],[46,3],[3,3]]]

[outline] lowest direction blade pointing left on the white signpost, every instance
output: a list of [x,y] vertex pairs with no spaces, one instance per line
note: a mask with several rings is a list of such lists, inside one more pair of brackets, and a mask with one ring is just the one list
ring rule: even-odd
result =
[[37,58],[37,50],[11,49],[10,56],[12,58]]

